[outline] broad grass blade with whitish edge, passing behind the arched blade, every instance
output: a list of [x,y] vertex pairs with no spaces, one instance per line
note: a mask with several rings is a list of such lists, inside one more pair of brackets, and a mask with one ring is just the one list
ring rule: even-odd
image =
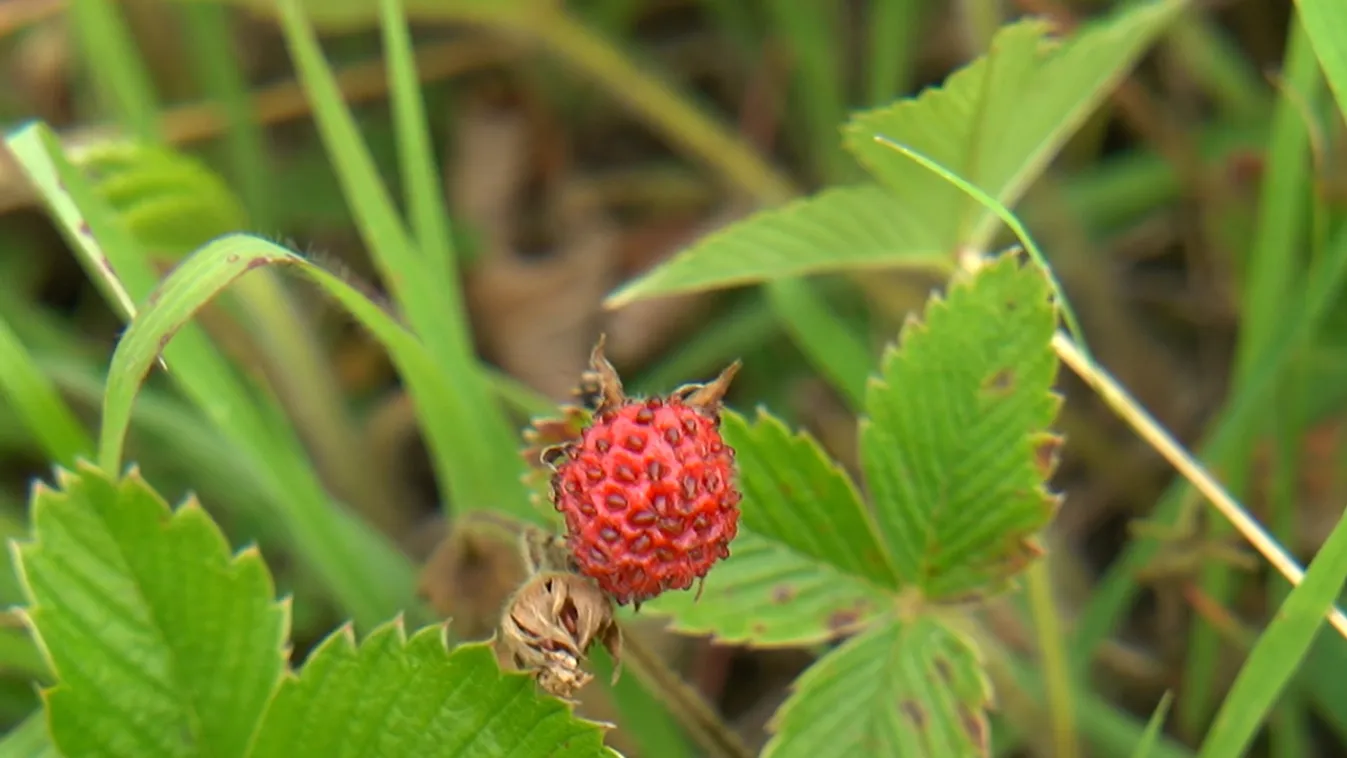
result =
[[[147,300],[159,280],[145,250],[97,198],[46,125],[26,127],[8,141],[86,273],[114,281],[106,289],[121,291],[133,314],[132,295]],[[365,626],[415,607],[415,576],[407,560],[333,508],[282,411],[244,382],[199,327],[186,326],[163,354],[172,366],[170,377],[230,443],[253,456],[272,494],[269,505],[342,609]],[[129,408],[117,412],[129,413]]]

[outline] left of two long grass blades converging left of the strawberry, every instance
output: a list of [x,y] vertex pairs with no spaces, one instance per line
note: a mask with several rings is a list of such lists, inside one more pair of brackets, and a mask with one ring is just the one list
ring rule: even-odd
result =
[[432,455],[440,486],[459,509],[497,508],[536,520],[521,481],[524,466],[516,452],[515,431],[493,403],[477,369],[466,318],[457,307],[458,298],[446,295],[451,287],[445,277],[449,267],[431,264],[397,217],[300,4],[283,0],[280,11],[291,58],[314,108],[319,135],[337,168],[356,226],[438,370],[445,377],[453,377],[453,381],[443,382],[446,394],[439,405],[445,412],[428,417],[427,423],[440,428],[434,435],[440,440],[471,429],[471,444],[435,446]]

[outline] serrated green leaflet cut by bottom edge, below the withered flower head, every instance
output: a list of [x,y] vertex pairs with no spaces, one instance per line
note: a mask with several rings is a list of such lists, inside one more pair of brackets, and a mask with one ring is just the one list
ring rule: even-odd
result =
[[504,673],[489,644],[446,649],[445,627],[401,621],[356,645],[325,640],[267,710],[252,758],[613,755],[603,727],[577,719],[525,675]]

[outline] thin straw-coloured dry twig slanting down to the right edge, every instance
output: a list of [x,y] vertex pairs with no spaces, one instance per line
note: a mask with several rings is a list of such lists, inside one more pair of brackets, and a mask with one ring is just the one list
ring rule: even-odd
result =
[[[1296,563],[1296,559],[1286,555],[1277,540],[1268,535],[1262,525],[1254,521],[1249,512],[1220,486],[1220,482],[1207,473],[1202,463],[1197,463],[1141,404],[1133,400],[1109,372],[1086,358],[1076,343],[1060,331],[1053,335],[1052,347],[1061,361],[1083,378],[1118,417],[1126,421],[1141,439],[1146,440],[1203,497],[1211,501],[1211,505],[1216,506],[1216,510],[1235,526],[1239,535],[1286,578],[1286,582],[1290,582],[1292,586],[1300,586],[1305,571]],[[1347,615],[1343,615],[1336,606],[1328,613],[1328,623],[1339,634],[1347,637]]]

